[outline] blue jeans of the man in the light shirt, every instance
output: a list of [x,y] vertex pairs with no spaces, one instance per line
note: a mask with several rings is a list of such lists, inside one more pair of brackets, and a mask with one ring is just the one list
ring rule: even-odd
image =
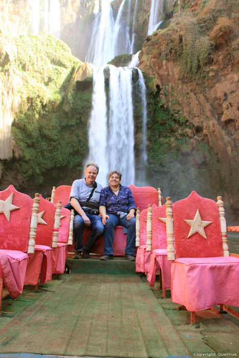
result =
[[98,215],[92,215],[86,213],[86,215],[91,220],[91,234],[88,240],[85,242],[84,247],[82,244],[83,238],[83,230],[84,230],[84,220],[79,214],[75,214],[74,216],[74,243],[75,243],[75,251],[81,252],[82,249],[86,252],[90,252],[93,248],[95,242],[100,238],[103,234],[104,226],[102,224],[102,218]]

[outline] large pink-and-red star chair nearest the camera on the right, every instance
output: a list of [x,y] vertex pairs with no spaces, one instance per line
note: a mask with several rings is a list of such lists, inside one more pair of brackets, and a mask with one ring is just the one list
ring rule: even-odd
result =
[[229,256],[221,196],[215,203],[192,191],[173,206],[168,197],[166,217],[172,302],[191,312],[191,323],[196,311],[238,307],[239,259]]

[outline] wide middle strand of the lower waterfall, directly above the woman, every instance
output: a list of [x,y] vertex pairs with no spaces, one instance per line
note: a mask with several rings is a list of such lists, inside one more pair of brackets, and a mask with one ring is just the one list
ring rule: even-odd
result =
[[132,70],[110,68],[110,120],[108,124],[107,159],[109,167],[122,172],[122,183],[135,182],[134,116]]

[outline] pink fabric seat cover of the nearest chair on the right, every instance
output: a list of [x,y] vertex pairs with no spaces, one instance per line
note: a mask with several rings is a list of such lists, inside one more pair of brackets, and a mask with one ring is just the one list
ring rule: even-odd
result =
[[179,258],[171,265],[172,302],[189,311],[220,303],[239,306],[238,278],[236,257]]

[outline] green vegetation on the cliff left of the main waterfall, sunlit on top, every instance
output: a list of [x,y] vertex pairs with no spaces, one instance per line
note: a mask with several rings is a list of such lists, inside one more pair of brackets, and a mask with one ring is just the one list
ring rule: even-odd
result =
[[2,63],[3,72],[14,67],[23,86],[18,88],[20,101],[12,123],[17,158],[2,161],[2,183],[10,175],[18,188],[27,185],[31,192],[44,184],[50,190],[72,171],[77,175],[82,166],[88,149],[92,82],[77,85],[75,76],[83,63],[53,36],[22,35],[11,40],[17,56]]

